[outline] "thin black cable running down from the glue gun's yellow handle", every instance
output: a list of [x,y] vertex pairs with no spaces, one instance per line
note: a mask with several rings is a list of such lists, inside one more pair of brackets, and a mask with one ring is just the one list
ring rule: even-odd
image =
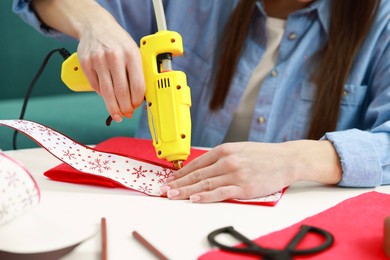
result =
[[[54,49],[46,55],[45,59],[43,60],[43,62],[41,64],[41,67],[39,68],[38,72],[35,74],[33,80],[31,81],[30,86],[27,89],[26,95],[24,96],[23,106],[22,106],[22,110],[20,111],[19,120],[22,120],[24,118],[24,114],[26,113],[26,109],[27,109],[27,103],[28,103],[28,100],[30,99],[32,90],[35,86],[35,83],[38,81],[42,72],[45,70],[46,65],[47,65],[49,59],[51,58],[51,56],[56,52],[58,52],[65,60],[70,56],[70,53],[65,48]],[[14,130],[14,135],[12,138],[12,146],[13,146],[14,150],[17,150],[17,147],[16,147],[17,135],[18,135],[18,131]]]

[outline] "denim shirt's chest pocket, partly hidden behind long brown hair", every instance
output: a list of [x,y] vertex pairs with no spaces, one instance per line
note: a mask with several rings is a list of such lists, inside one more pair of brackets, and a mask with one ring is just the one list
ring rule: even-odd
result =
[[[359,126],[362,120],[361,113],[366,97],[366,85],[344,85],[337,130],[345,130]],[[296,111],[294,139],[306,137],[314,103],[315,86],[312,83],[304,83],[301,87],[300,100]]]

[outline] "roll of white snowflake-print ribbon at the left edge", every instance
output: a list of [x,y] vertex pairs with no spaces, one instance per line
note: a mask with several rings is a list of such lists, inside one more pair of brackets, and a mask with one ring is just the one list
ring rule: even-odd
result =
[[40,192],[31,174],[0,152],[0,225],[38,204]]

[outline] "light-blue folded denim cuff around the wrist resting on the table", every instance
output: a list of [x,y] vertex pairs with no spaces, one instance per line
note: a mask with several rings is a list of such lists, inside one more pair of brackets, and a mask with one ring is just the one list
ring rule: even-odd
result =
[[375,187],[382,184],[382,167],[371,142],[372,133],[350,129],[326,133],[341,162],[342,178],[339,186]]

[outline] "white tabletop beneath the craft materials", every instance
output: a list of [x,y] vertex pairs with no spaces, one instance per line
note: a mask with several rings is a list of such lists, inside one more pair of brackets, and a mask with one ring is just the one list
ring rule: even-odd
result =
[[[170,259],[195,259],[211,249],[206,236],[215,229],[234,226],[254,239],[365,192],[375,190],[390,194],[390,186],[356,189],[302,182],[291,186],[274,207],[232,203],[193,204],[187,200],[170,201],[120,188],[52,181],[43,172],[60,161],[44,149],[5,153],[24,164],[41,189],[39,205],[26,214],[80,229],[88,225],[97,227],[100,219],[105,217],[110,260],[155,259],[132,237],[134,230]],[[64,259],[100,259],[99,239],[99,235],[94,236]]]

